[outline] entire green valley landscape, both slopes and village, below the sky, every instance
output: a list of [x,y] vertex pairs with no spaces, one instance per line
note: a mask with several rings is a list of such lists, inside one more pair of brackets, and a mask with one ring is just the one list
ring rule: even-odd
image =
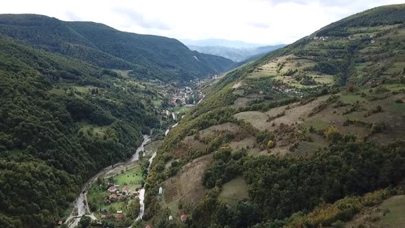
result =
[[0,14],[0,228],[404,227],[405,4],[205,46]]

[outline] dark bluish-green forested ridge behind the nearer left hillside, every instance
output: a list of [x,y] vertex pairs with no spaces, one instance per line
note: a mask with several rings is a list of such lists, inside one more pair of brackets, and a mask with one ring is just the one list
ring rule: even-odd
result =
[[185,82],[220,73],[233,63],[226,58],[192,52],[172,38],[35,14],[1,14],[0,35],[98,67],[132,70],[131,74],[138,78]]

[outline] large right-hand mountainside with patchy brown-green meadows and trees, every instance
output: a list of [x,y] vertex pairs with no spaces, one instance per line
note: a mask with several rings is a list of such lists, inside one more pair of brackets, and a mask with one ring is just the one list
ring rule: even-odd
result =
[[[358,212],[378,212],[405,192],[404,63],[402,4],[354,14],[230,71],[165,137],[145,218],[344,227]],[[362,218],[358,227],[401,223]]]

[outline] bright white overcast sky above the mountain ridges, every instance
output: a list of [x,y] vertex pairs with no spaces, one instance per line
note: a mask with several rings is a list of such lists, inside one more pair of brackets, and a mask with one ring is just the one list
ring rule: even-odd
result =
[[292,43],[345,16],[403,0],[12,0],[0,14],[43,14],[178,39]]

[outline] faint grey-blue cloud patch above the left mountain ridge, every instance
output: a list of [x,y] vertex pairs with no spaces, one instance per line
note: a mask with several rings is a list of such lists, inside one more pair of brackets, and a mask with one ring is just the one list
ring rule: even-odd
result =
[[145,15],[136,12],[134,10],[128,10],[125,8],[115,8],[113,12],[116,12],[120,16],[124,16],[128,19],[128,27],[133,23],[146,28],[146,29],[157,29],[157,30],[170,30],[170,27],[163,23],[162,21],[156,21],[151,19],[146,19]]

